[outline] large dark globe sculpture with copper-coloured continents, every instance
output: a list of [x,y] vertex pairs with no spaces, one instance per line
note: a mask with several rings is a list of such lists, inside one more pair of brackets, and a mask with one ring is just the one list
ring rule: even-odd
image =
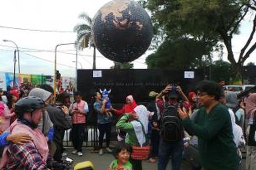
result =
[[115,62],[130,62],[146,52],[153,37],[150,16],[138,3],[113,0],[93,18],[91,34],[99,52]]

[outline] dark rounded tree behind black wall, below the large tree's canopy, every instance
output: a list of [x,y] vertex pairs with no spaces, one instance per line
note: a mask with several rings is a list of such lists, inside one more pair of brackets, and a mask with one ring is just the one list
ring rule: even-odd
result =
[[[210,43],[208,44],[210,45]],[[194,38],[166,38],[157,51],[146,58],[148,68],[198,68],[212,63],[212,45]]]

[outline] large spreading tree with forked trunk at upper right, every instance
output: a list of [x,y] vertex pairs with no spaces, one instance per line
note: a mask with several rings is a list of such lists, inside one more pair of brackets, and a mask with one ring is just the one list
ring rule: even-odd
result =
[[[154,26],[167,35],[222,41],[233,66],[233,77],[241,80],[242,66],[256,48],[256,43],[252,44],[256,30],[255,0],[148,0],[146,7],[152,13]],[[232,37],[239,34],[246,15],[254,15],[253,28],[236,61]]]

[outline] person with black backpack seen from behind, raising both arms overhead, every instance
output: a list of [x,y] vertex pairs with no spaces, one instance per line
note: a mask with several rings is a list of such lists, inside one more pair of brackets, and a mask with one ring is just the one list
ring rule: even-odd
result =
[[166,103],[161,115],[161,135],[158,154],[158,170],[165,170],[171,156],[172,170],[179,170],[182,161],[183,152],[183,126],[177,113],[180,106],[178,99],[188,102],[180,86],[169,84],[157,98],[162,99],[165,96]]

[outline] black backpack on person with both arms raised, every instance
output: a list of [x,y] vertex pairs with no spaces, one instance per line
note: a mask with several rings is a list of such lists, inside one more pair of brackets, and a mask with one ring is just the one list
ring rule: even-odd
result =
[[183,137],[183,126],[177,107],[166,104],[161,118],[161,135],[164,141],[177,141]]

